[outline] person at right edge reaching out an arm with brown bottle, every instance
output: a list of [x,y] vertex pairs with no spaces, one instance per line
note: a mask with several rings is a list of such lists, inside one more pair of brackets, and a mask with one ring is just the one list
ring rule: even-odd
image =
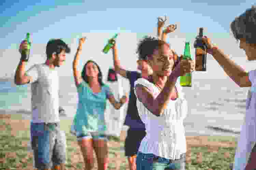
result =
[[[256,6],[248,8],[230,24],[234,38],[239,41],[239,48],[244,50],[248,61],[256,60]],[[234,63],[228,55],[211,43],[210,38],[203,37],[210,53],[226,74],[239,87],[250,87],[246,99],[246,113],[241,127],[233,170],[256,169],[256,69],[247,72]]]

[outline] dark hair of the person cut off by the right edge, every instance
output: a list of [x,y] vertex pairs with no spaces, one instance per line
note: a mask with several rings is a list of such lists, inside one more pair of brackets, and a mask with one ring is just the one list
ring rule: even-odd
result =
[[244,38],[248,44],[256,44],[256,6],[248,8],[230,24],[230,29],[236,40]]

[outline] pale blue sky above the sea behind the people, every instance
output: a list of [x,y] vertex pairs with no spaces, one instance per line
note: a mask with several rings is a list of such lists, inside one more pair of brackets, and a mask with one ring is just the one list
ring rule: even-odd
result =
[[[244,52],[230,33],[230,23],[251,5],[253,0],[244,1],[84,1],[38,0],[18,2],[8,0],[0,6],[0,77],[15,72],[19,62],[19,43],[26,33],[31,33],[31,58],[26,69],[46,60],[45,46],[51,38],[62,38],[71,47],[60,76],[72,76],[72,61],[78,38],[86,36],[80,56],[80,69],[87,60],[95,60],[106,77],[113,66],[112,52],[103,54],[108,39],[115,33],[118,56],[127,70],[136,70],[138,41],[145,35],[156,36],[157,17],[167,15],[166,26],[177,24],[177,30],[168,35],[167,41],[178,53],[183,54],[185,41],[194,43],[199,27],[213,43],[229,54],[232,60],[243,65],[247,71],[255,69],[254,62],[247,62]],[[194,55],[194,49],[191,47]],[[226,74],[211,55],[208,55],[207,72],[196,72],[195,77],[225,79]]]

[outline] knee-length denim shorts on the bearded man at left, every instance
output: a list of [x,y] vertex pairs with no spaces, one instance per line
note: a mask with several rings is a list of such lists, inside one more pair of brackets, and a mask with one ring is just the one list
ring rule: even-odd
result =
[[47,169],[66,163],[66,137],[59,123],[30,124],[34,168]]

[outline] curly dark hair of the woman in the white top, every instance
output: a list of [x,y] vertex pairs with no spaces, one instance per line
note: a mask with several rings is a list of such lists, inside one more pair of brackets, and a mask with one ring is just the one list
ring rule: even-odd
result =
[[151,36],[144,36],[142,40],[139,41],[136,53],[139,55],[139,60],[147,60],[147,55],[153,54],[155,49],[159,49],[163,44],[170,47],[168,43]]

